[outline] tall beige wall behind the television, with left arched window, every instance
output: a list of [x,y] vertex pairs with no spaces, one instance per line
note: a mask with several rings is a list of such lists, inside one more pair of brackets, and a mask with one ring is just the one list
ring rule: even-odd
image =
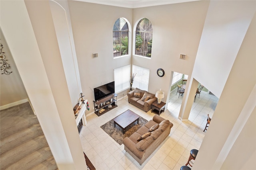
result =
[[[93,106],[93,89],[114,81],[114,68],[131,64],[131,49],[126,57],[114,59],[112,32],[120,17],[132,24],[133,10],[78,1],[68,1],[68,6],[82,91],[89,106]],[[98,53],[98,58],[92,58],[93,53]]]

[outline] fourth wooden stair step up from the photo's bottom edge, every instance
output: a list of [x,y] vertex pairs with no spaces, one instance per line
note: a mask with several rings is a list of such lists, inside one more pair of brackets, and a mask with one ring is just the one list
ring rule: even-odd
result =
[[1,139],[0,154],[40,135],[43,135],[43,131],[38,123],[28,127],[27,129],[5,137],[4,139]]

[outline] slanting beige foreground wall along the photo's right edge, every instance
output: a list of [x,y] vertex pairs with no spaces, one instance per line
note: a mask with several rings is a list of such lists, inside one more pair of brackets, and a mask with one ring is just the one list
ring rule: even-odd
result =
[[[255,3],[255,2],[254,2]],[[253,4],[252,4],[253,5]],[[255,4],[254,4],[255,7]],[[194,169],[256,169],[256,16],[230,70]],[[241,82],[246,82],[246,85]]]

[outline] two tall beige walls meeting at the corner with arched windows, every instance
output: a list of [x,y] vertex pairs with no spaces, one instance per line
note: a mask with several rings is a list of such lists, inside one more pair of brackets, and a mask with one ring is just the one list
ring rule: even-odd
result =
[[[68,4],[82,89],[89,104],[94,100],[93,88],[113,81],[114,68],[131,64],[130,55],[113,59],[112,30],[120,17],[130,22],[132,32],[141,18],[146,17],[153,24],[151,59],[132,56],[132,64],[150,69],[149,92],[155,93],[161,88],[166,100],[172,71],[191,76],[209,2],[135,9],[77,1],[68,1]],[[93,59],[92,53],[98,53],[99,57]],[[187,55],[186,60],[179,59],[181,53]],[[165,70],[164,77],[157,76],[158,68]]]

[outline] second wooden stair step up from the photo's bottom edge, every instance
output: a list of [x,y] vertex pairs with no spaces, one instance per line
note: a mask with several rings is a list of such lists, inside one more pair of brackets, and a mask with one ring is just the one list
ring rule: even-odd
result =
[[[23,157],[17,162],[11,164],[6,168],[6,170],[30,170],[32,167],[44,162],[44,160],[47,160],[50,157],[52,157],[52,152],[50,151],[50,148],[43,147]],[[1,164],[1,169],[2,169],[2,164]],[[56,168],[53,168],[52,170],[54,169]],[[51,169],[48,168],[48,170],[51,170]]]

